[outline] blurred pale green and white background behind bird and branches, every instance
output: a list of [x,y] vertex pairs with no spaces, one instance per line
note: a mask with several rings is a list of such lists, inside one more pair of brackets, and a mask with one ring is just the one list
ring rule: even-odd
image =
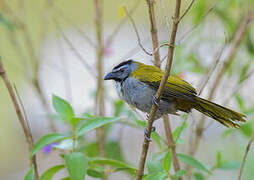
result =
[[[182,2],[182,12],[189,2],[187,0]],[[103,39],[106,42],[109,37],[114,38],[112,44],[105,47],[104,72],[110,71],[114,65],[129,58],[152,64],[152,57],[146,55],[137,45],[137,37],[130,21],[123,20],[126,18],[122,10],[124,6],[128,10],[136,7],[132,17],[137,24],[141,41],[146,49],[152,49],[146,2],[105,0]],[[214,8],[211,10],[212,7]],[[230,50],[230,42],[237,28],[250,9],[254,9],[253,0],[196,0],[179,26],[173,73],[180,74],[183,79],[198,88],[226,43],[220,62],[211,76],[212,82],[217,69],[221,68],[224,57]],[[160,43],[169,39],[170,29],[166,21],[171,23],[173,10],[174,2],[156,1],[155,12]],[[96,40],[94,14],[91,0],[0,1],[0,56],[10,81],[15,84],[23,100],[35,140],[51,131],[47,119],[54,112],[51,104],[52,94],[67,99],[79,114],[93,112],[96,79],[84,66],[83,61],[94,67],[92,71],[96,71],[96,52],[86,38],[89,37],[92,42]],[[119,31],[113,33],[121,22],[124,23]],[[166,47],[162,48],[161,57],[166,53]],[[235,131],[213,123],[204,132],[196,154],[200,161],[210,166],[216,161],[218,152],[222,153],[222,159],[238,163],[229,165],[229,170],[216,170],[208,177],[209,179],[237,179],[239,162],[251,135],[254,118],[253,61],[254,24],[251,22],[214,98],[217,103],[223,104],[227,101],[227,106],[247,114],[248,124]],[[165,61],[163,67],[164,65]],[[209,93],[212,84],[210,81],[202,97],[206,97]],[[238,90],[234,92],[236,89]],[[112,82],[105,83],[105,92],[106,115],[111,115],[115,110],[112,104],[118,99]],[[22,179],[29,169],[27,144],[2,81],[0,81],[0,102],[0,179]],[[125,108],[129,110],[127,106]],[[180,152],[187,151],[189,139],[194,136],[193,127],[200,114],[196,112],[192,114],[182,137],[184,143],[178,146]],[[174,128],[183,121],[175,116],[172,119]],[[206,121],[207,124],[212,122],[211,119]],[[65,125],[57,121],[54,121],[54,124],[57,131],[66,130]],[[124,129],[120,141],[123,156],[128,162],[137,165],[143,130],[124,126],[127,125],[116,125],[111,129],[108,138],[119,140],[119,131]],[[157,126],[158,133],[163,137],[162,123],[156,122]],[[87,139],[94,141],[95,134],[89,133]],[[154,144],[151,149],[151,153],[158,151]],[[245,166],[244,179],[254,177],[252,149]],[[61,161],[54,153],[39,154],[40,171]],[[59,174],[59,177],[62,175]],[[128,179],[122,174],[111,178],[119,179],[119,177]]]

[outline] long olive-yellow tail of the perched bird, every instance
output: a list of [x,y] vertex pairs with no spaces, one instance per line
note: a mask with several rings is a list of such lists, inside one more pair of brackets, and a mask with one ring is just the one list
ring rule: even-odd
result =
[[224,126],[238,128],[240,127],[239,122],[246,121],[244,119],[246,117],[245,115],[235,112],[231,109],[225,108],[200,97],[196,97],[195,100],[196,103],[194,108],[196,110],[215,119]]

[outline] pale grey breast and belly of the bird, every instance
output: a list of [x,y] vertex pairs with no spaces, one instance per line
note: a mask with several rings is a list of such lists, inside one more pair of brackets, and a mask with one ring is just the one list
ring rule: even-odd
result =
[[[150,112],[152,107],[152,96],[155,95],[156,92],[148,85],[133,77],[129,77],[122,83],[117,82],[116,89],[122,100],[143,112]],[[175,111],[175,107],[171,102],[160,101],[156,119],[162,114],[175,113]]]

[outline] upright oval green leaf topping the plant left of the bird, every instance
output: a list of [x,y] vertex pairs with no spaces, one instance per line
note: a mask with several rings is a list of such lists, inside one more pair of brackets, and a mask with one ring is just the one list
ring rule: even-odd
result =
[[71,122],[71,119],[75,116],[71,105],[64,99],[55,95],[53,95],[52,101],[56,112],[62,117],[62,119]]

